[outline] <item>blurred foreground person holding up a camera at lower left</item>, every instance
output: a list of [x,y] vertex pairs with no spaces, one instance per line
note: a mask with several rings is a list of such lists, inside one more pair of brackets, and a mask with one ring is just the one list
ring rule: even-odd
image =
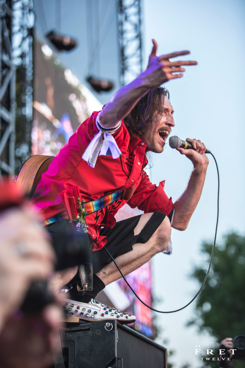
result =
[[59,303],[32,314],[19,308],[30,284],[48,279],[54,262],[48,235],[22,193],[14,183],[0,184],[0,367],[52,364],[62,320]]

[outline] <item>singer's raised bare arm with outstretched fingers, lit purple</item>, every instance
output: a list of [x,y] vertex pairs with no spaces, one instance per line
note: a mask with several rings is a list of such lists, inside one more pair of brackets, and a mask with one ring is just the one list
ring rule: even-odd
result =
[[[107,128],[114,128],[118,125],[136,103],[151,88],[159,86],[170,79],[183,77],[183,65],[195,65],[197,61],[169,61],[172,57],[189,54],[190,51],[174,52],[157,57],[157,43],[152,40],[153,47],[149,56],[147,69],[142,72],[133,82],[120,88],[111,100],[105,105],[100,113],[100,123]],[[173,73],[178,74],[173,74]]]

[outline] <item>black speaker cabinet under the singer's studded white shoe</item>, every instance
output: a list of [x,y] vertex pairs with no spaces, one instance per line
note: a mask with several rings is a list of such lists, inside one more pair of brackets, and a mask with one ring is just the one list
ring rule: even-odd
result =
[[65,368],[167,368],[167,350],[115,320],[61,328]]

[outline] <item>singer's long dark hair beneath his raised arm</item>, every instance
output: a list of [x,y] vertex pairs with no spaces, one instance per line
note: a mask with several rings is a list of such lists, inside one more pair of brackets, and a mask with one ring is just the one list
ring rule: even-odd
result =
[[131,138],[141,137],[149,124],[161,118],[165,96],[169,99],[169,91],[164,87],[150,89],[123,119]]

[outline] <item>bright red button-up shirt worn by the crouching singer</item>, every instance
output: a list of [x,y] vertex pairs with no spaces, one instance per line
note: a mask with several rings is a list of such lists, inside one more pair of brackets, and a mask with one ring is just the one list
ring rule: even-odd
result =
[[31,202],[48,219],[64,211],[60,192],[67,187],[77,185],[80,200],[85,199],[86,202],[117,190],[124,191],[127,195],[123,198],[86,216],[93,250],[105,245],[107,238],[100,236],[100,228],[112,228],[116,223],[114,215],[125,203],[145,213],[158,211],[169,215],[174,208],[172,198],[168,198],[163,190],[164,181],[156,187],[143,170],[147,164],[145,142],[138,137],[130,139],[123,123],[112,134],[122,152],[120,158],[98,156],[94,168],[82,159],[91,139],[98,133],[97,115],[98,112],[94,112],[84,121],[60,149],[42,175]]

